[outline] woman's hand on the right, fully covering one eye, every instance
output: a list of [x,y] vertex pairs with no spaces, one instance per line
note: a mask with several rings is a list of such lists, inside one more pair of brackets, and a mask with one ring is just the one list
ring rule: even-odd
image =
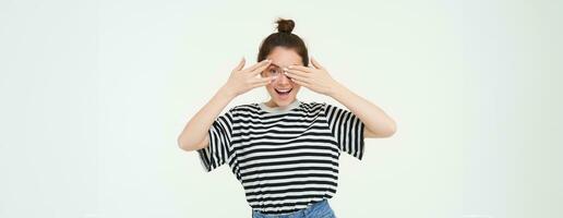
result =
[[286,75],[298,85],[315,93],[331,96],[340,86],[316,60],[311,58],[314,68],[304,65],[289,65],[284,69]]

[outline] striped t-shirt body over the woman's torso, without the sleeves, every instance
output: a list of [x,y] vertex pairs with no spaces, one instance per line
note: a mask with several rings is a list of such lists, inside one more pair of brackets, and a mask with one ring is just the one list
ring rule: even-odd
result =
[[340,152],[323,113],[325,105],[235,108],[229,166],[253,209],[287,214],[336,193]]

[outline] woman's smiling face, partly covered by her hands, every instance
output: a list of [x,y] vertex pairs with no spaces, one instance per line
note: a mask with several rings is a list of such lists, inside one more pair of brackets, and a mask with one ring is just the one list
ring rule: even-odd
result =
[[276,80],[266,85],[266,90],[272,97],[267,105],[271,107],[288,106],[294,102],[301,86],[289,80],[283,69],[289,65],[303,65],[301,57],[294,49],[276,47],[266,59],[272,60],[272,64],[262,72],[262,76],[276,76]]

